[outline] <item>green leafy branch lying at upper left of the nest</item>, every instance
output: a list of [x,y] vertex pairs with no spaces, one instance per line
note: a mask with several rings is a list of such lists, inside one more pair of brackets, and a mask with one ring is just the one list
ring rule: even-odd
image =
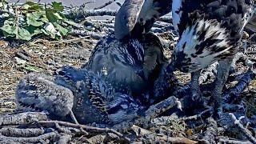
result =
[[35,35],[46,34],[58,39],[70,31],[70,27],[62,26],[70,21],[62,14],[64,6],[61,2],[52,2],[50,5],[34,2],[12,5],[2,0],[0,10],[4,12],[0,19],[5,19],[0,29],[6,38],[29,41]]

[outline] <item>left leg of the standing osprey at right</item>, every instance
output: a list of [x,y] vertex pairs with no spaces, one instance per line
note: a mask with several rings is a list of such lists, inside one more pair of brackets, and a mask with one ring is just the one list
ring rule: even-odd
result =
[[201,91],[199,86],[200,73],[201,73],[201,70],[191,73],[190,90],[192,94],[192,99],[194,101],[201,97]]

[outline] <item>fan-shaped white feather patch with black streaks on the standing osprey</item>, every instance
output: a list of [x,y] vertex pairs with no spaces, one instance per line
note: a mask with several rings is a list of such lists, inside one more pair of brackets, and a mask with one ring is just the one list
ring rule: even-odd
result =
[[230,53],[230,34],[216,20],[198,18],[186,26],[172,56],[182,72],[194,72]]

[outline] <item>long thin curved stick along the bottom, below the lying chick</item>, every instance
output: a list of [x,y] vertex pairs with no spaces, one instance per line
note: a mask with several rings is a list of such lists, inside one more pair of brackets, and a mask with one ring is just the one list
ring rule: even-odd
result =
[[70,123],[70,122],[62,122],[62,121],[39,121],[39,124],[41,124],[42,126],[55,126],[56,123],[58,123],[58,125],[62,125],[62,126],[66,126],[66,127],[74,127],[74,128],[82,128],[84,130],[90,131],[90,132],[94,132],[94,133],[114,133],[117,134],[120,138],[124,138],[124,140],[126,141],[130,141],[129,138],[125,138],[123,136],[123,134],[119,133],[116,130],[113,129],[109,129],[109,128],[98,128],[98,127],[93,127],[93,126],[86,126],[86,125],[80,125],[80,124],[74,124],[74,123]]

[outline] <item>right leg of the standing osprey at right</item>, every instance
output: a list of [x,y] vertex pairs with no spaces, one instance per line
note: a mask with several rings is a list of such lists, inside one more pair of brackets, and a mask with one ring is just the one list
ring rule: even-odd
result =
[[230,64],[232,59],[226,59],[218,62],[218,72],[214,83],[214,91],[212,97],[214,98],[215,112],[222,113],[222,89],[225,85],[226,79],[229,76]]

